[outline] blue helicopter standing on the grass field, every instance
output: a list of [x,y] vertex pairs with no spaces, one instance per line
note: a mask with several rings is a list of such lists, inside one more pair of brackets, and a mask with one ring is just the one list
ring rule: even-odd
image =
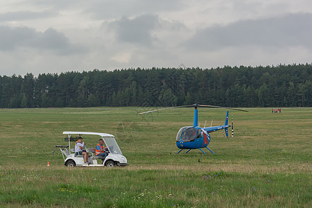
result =
[[[202,148],[207,148],[211,137],[209,133],[211,132],[216,132],[218,130],[225,130],[225,135],[227,139],[229,139],[229,131],[228,128],[232,127],[232,137],[233,137],[233,119],[232,119],[232,125],[229,125],[229,111],[227,111],[226,117],[225,117],[225,124],[224,125],[216,125],[216,126],[210,126],[210,127],[204,127],[201,128],[198,125],[198,107],[220,107],[220,108],[227,108],[231,110],[239,110],[243,112],[248,112],[246,110],[241,110],[241,109],[235,109],[231,107],[221,107],[221,106],[216,106],[216,105],[200,105],[198,103],[195,103],[193,105],[181,105],[181,106],[174,106],[174,107],[165,107],[162,109],[157,109],[157,110],[151,110],[148,112],[141,112],[139,114],[146,114],[150,112],[156,112],[159,110],[168,110],[176,107],[195,107],[194,110],[194,119],[193,119],[193,126],[184,126],[180,128],[180,130],[177,132],[177,137],[175,139],[177,148],[180,148],[180,150],[177,152],[179,154],[182,150],[188,149],[186,153],[189,153],[190,150],[192,149],[200,149],[202,153],[206,155],[204,150]],[[212,125],[212,123],[211,123]],[[214,154],[212,150],[207,148],[211,153]]]

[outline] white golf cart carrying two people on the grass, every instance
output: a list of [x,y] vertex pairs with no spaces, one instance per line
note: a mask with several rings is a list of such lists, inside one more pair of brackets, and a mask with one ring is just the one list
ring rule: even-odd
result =
[[[121,153],[121,150],[116,143],[116,140],[113,135],[105,134],[105,133],[97,133],[97,132],[63,132],[63,135],[68,135],[65,138],[65,141],[68,141],[68,146],[60,146],[56,145],[56,148],[60,148],[62,153],[65,166],[73,167],[73,166],[85,166],[84,165],[84,156],[75,154],[75,144],[71,144],[71,142],[76,142],[78,137],[82,137],[82,135],[98,135],[103,139],[105,146],[107,147],[106,157],[99,157],[95,155],[95,148],[86,147],[85,150],[89,153],[88,166],[126,166],[128,165],[127,159]],[[78,137],[73,137],[72,135],[77,135]],[[96,143],[96,141],[94,141]],[[89,143],[88,143],[89,144]],[[54,149],[54,152],[55,152]],[[54,154],[53,152],[53,154]],[[101,162],[98,164],[98,160],[101,159]]]

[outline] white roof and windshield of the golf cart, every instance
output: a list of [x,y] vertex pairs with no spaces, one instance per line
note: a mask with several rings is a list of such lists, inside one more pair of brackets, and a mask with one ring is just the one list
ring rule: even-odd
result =
[[[120,150],[120,148],[119,148],[119,146],[118,146],[118,144],[114,138],[114,135],[105,134],[105,133],[98,133],[98,132],[63,132],[63,135],[68,135],[69,137],[71,137],[71,135],[98,135],[101,137],[101,139],[103,139],[106,147],[108,148],[108,150],[110,150],[111,154],[120,154],[120,155],[123,154],[123,153],[121,153],[121,150]],[[70,145],[71,144],[69,142],[69,148],[70,148]]]

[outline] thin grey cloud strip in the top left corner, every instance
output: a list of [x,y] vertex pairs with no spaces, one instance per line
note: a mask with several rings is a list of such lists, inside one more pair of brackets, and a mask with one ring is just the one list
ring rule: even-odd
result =
[[53,17],[57,15],[56,12],[44,11],[44,12],[31,12],[31,11],[17,11],[17,12],[6,12],[0,14],[1,21],[17,21],[26,19],[42,19],[46,17]]

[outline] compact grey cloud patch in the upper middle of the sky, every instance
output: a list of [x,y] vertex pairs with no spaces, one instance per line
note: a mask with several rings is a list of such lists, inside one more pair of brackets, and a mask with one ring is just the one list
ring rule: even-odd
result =
[[122,17],[112,22],[111,26],[116,32],[118,41],[150,46],[155,39],[151,31],[157,26],[158,21],[156,15],[141,15],[135,19]]

